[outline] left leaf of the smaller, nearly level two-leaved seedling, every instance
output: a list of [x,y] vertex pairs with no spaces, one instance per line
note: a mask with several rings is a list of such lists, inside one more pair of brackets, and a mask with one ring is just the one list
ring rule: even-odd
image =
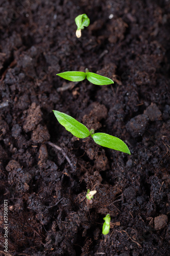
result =
[[72,82],[79,82],[86,78],[86,73],[80,71],[66,71],[56,75]]

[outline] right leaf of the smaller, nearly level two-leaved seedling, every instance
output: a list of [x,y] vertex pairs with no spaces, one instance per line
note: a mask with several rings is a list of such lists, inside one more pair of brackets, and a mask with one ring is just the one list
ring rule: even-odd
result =
[[92,72],[86,73],[86,78],[88,81],[92,82],[93,84],[97,84],[98,86],[107,86],[107,84],[114,83],[112,79]]

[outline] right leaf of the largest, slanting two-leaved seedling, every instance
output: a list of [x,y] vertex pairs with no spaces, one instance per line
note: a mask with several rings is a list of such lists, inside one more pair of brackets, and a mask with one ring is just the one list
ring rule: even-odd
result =
[[112,148],[112,150],[121,151],[121,152],[127,153],[129,155],[131,154],[130,150],[129,150],[128,146],[125,144],[125,142],[123,142],[122,140],[120,140],[117,137],[111,136],[106,133],[94,133],[91,135],[91,137],[93,138],[95,143],[97,143],[101,146]]

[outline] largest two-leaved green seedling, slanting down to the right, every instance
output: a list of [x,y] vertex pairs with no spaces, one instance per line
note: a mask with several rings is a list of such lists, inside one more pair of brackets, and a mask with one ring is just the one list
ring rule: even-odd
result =
[[84,124],[80,123],[75,118],[57,110],[53,110],[53,112],[59,123],[77,138],[83,139],[91,136],[96,144],[111,148],[113,150],[121,151],[129,155],[131,154],[128,146],[119,138],[113,137],[106,133],[94,133],[93,129],[89,131]]

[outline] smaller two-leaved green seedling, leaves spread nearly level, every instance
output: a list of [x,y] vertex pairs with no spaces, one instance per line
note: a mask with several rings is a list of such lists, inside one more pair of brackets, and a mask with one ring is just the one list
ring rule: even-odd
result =
[[80,71],[66,71],[57,74],[57,76],[60,76],[66,80],[72,81],[72,82],[80,82],[83,81],[85,78],[93,84],[96,84],[98,86],[104,86],[111,83],[114,83],[112,79],[101,76],[92,72],[89,72],[88,69],[85,70],[86,72],[80,72]]

